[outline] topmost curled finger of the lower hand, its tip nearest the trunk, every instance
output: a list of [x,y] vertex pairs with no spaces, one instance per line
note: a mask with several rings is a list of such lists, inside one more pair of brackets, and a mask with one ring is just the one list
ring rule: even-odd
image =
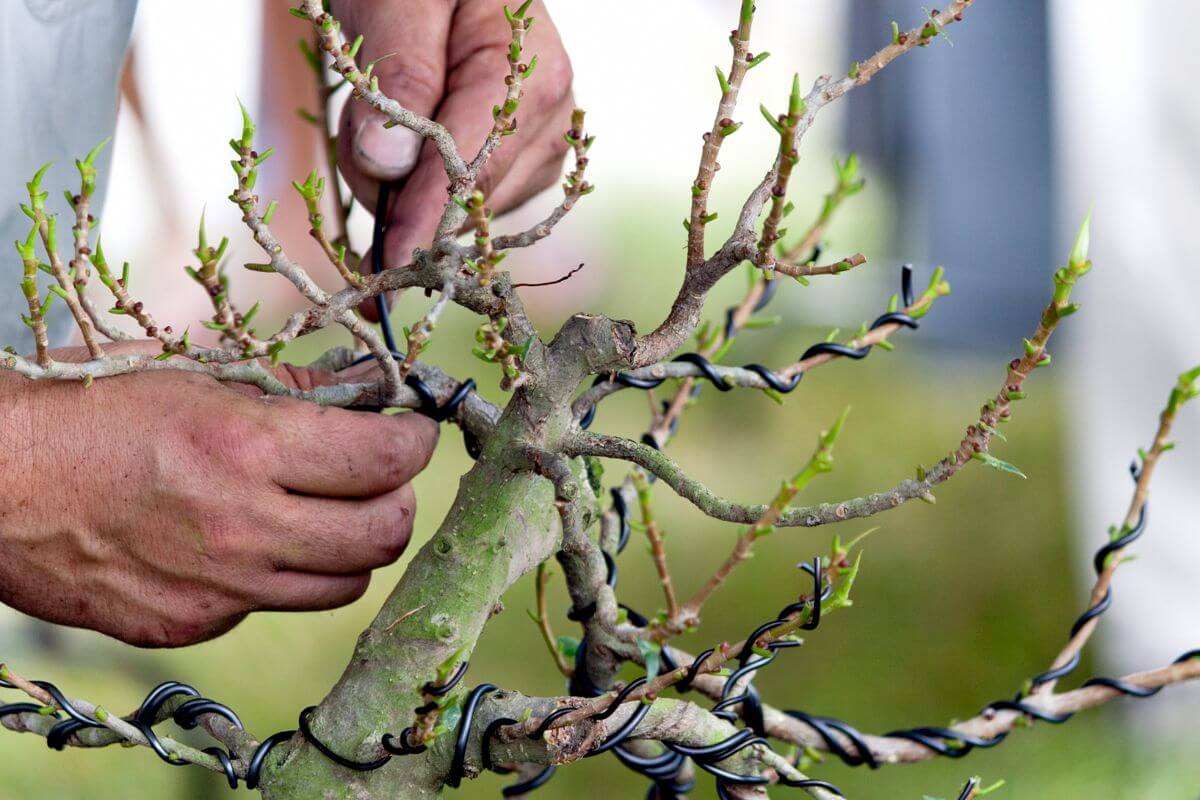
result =
[[370,498],[408,483],[425,469],[438,426],[420,414],[322,408],[269,397],[277,408],[270,479],[289,492],[324,498]]

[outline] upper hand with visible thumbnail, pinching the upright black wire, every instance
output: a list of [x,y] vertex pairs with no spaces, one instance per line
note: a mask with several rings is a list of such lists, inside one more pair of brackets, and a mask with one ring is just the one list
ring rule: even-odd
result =
[[[520,5],[509,0],[510,4]],[[492,107],[503,102],[511,31],[503,0],[338,0],[334,13],[353,40],[362,34],[358,60],[374,68],[379,89],[402,106],[430,116],[454,136],[463,157],[474,157],[492,130]],[[518,131],[505,137],[481,175],[487,205],[502,213],[558,180],[575,101],[571,65],[545,4],[526,38],[538,68],[524,83]],[[338,164],[355,197],[374,207],[380,181],[401,178],[391,206],[384,264],[412,260],[427,246],[446,203],[446,176],[437,150],[412,131],[384,128],[385,118],[349,102],[338,131]],[[370,263],[370,261],[367,261]]]

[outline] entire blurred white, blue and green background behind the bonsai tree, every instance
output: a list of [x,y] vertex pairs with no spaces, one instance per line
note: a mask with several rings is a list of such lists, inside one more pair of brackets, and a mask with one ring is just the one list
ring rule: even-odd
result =
[[[661,319],[679,281],[679,219],[700,133],[716,102],[713,64],[728,60],[734,7],[731,0],[638,4],[637,30],[653,31],[647,40],[598,28],[593,4],[550,0],[572,55],[588,130],[598,137],[589,166],[598,191],[552,239],[506,263],[523,281],[587,264],[568,283],[526,291],[544,333],[578,309],[629,318],[642,330]],[[751,73],[738,113],[748,124],[722,151],[713,194],[721,219],[710,241],[727,230],[725,219],[736,216],[773,156],[774,133],[757,119],[756,104],[781,108],[793,71],[804,85],[823,72],[839,73],[887,41],[892,19],[908,28],[922,13],[912,0],[758,4],[752,49],[773,55]],[[1124,513],[1126,467],[1148,443],[1175,374],[1200,354],[1189,330],[1200,285],[1184,255],[1200,245],[1193,222],[1200,212],[1200,103],[1190,88],[1200,56],[1188,42],[1196,22],[1200,8],[1184,0],[1156,4],[1152,16],[1129,1],[1097,7],[1085,0],[986,0],[948,37],[822,113],[793,179],[791,228],[799,231],[820,210],[833,186],[833,157],[854,150],[868,187],[839,213],[827,252],[862,251],[870,263],[811,287],[780,287],[767,313],[780,315],[781,324],[745,333],[730,361],[786,363],[829,329],[856,329],[898,290],[905,261],[916,265],[918,285],[944,264],[954,294],[936,303],[919,332],[898,335],[894,353],[823,367],[782,408],[751,392],[703,392],[671,447],[695,475],[722,494],[761,501],[845,404],[853,413],[836,470],[804,501],[876,491],[910,476],[918,463],[931,464],[996,391],[1091,209],[1096,269],[1079,290],[1085,311],[1056,336],[1054,368],[1032,378],[1031,399],[1006,429],[1009,441],[994,450],[1027,481],[968,469],[937,492],[936,506],[913,503],[836,530],[779,531],[760,542],[758,558],[710,604],[703,633],[683,646],[696,651],[738,638],[797,594],[797,561],[827,552],[835,533],[847,539],[877,524],[854,607],[762,674],[758,686],[770,703],[845,718],[872,733],[940,726],[1014,693],[1048,666],[1086,606],[1091,553]],[[206,299],[190,291],[182,273],[202,210],[210,235],[234,240],[234,263],[254,258],[224,199],[230,191],[224,140],[239,125],[235,97],[257,109],[260,139],[281,152],[265,168],[266,184],[259,184],[264,198],[281,200],[277,233],[293,257],[320,263],[288,187],[322,163],[295,114],[314,106],[295,48],[302,34],[282,0],[140,4],[122,85],[104,248],[109,260],[133,263],[134,279],[160,319],[181,325],[206,317]],[[30,154],[31,167],[40,160]],[[547,192],[496,228],[526,227],[557,196],[557,188]],[[356,211],[353,227],[362,242],[368,217]],[[336,285],[332,270],[314,271],[325,285]],[[295,305],[289,288],[271,276],[235,271],[234,281],[236,296],[268,297],[264,305],[281,319]],[[740,276],[731,276],[718,287],[707,317],[719,319],[743,285]],[[416,319],[426,302],[403,297],[397,324]],[[496,371],[469,355],[476,321],[456,311],[443,319],[427,357],[451,374],[476,375],[486,395],[502,399]],[[302,360],[335,342],[313,341],[307,353],[289,353],[298,350]],[[646,423],[644,396],[624,392],[602,408],[595,429],[636,437]],[[1088,649],[1080,679],[1157,667],[1200,644],[1198,428],[1188,409],[1177,428],[1181,447],[1157,475],[1150,535],[1136,547],[1139,560],[1121,570],[1116,607]],[[434,530],[456,477],[469,465],[458,439],[446,431],[418,480],[414,549]],[[612,480],[623,474],[618,464],[608,465]],[[701,517],[665,487],[656,501],[676,581],[694,589],[724,558],[737,529]],[[161,680],[186,681],[265,735],[294,727],[296,711],[324,696],[403,569],[402,560],[377,573],[370,594],[349,608],[254,615],[216,642],[174,652],[134,650],[0,609],[0,660],[115,709],[134,708]],[[655,609],[653,567],[642,547],[626,551],[620,575],[622,600]],[[558,632],[574,634],[562,615],[565,593],[556,591]],[[524,614],[532,604],[533,587],[522,581],[505,597],[508,612],[488,626],[470,680],[562,692]],[[962,762],[880,772],[827,763],[812,772],[850,798],[955,796],[978,774],[1007,780],[1001,798],[1194,800],[1200,795],[1196,711],[1200,686],[1174,687],[1154,700],[1120,700],[1066,726],[1019,729],[1003,746]],[[485,776],[460,794],[492,798],[504,782]],[[149,751],[54,753],[34,736],[8,734],[0,741],[5,800],[47,792],[200,800],[222,796],[222,786],[202,770],[167,769]],[[643,792],[642,778],[601,758],[560,770],[538,796]],[[694,796],[712,796],[710,781],[701,780]]]

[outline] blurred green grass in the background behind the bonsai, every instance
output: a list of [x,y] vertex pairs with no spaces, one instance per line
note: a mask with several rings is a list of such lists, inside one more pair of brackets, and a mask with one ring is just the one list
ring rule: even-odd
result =
[[[610,223],[626,231],[625,241],[641,241],[653,251],[654,242],[664,239],[661,231],[673,233],[673,228],[659,224],[653,213],[640,217],[644,209],[655,204],[641,204]],[[662,216],[674,213],[670,204],[664,209]],[[864,233],[862,225],[847,234]],[[676,245],[665,243],[656,252],[672,253]],[[613,255],[613,263],[623,263]],[[626,277],[631,269],[626,267]],[[676,279],[673,267],[641,276],[643,290],[630,296],[617,290],[617,277],[604,293],[589,297],[593,309],[631,317],[641,326],[661,313]],[[892,276],[886,277],[890,283]],[[857,273],[839,279],[840,289],[848,281],[859,282],[850,284],[857,293],[854,313],[866,317],[877,311],[880,279]],[[736,279],[726,283],[709,306],[714,317],[740,289]],[[820,282],[809,289],[782,289],[781,294],[794,293],[786,302],[802,309],[823,302],[824,293],[833,290]],[[941,302],[952,301],[978,299]],[[403,299],[397,318],[414,318],[425,302],[419,296]],[[541,330],[560,323],[559,306],[574,309],[576,305],[575,300],[541,305]],[[1032,323],[1037,309],[1025,313]],[[845,327],[852,329],[857,318],[847,323]],[[463,313],[448,313],[428,357],[452,374],[482,375],[482,391],[500,398],[496,375],[467,355],[473,325]],[[731,361],[786,362],[823,333],[788,319],[770,332],[744,336]],[[916,464],[931,464],[953,446],[1002,375],[1001,363],[931,354],[919,335],[901,333],[898,343],[893,354],[877,351],[862,363],[822,367],[784,408],[758,393],[706,391],[685,417],[671,452],[722,494],[766,500],[779,476],[806,458],[817,431],[851,404],[836,469],[815,483],[803,501],[890,486],[910,476]],[[319,350],[320,344],[311,349]],[[700,650],[739,638],[800,590],[799,560],[826,552],[834,533],[846,537],[878,524],[881,530],[866,542],[854,607],[827,620],[803,649],[785,652],[766,670],[758,680],[764,697],[785,708],[846,718],[866,732],[884,732],[946,724],[1012,694],[1026,676],[1048,664],[1086,602],[1085,589],[1074,579],[1086,555],[1068,542],[1058,391],[1052,371],[1045,372],[1034,377],[1031,399],[1006,429],[1010,443],[997,451],[1024,469],[1028,481],[971,468],[937,492],[936,506],[908,504],[876,521],[844,523],[836,531],[780,530],[760,542],[756,558],[714,599],[703,633],[680,644]],[[644,419],[644,396],[624,392],[605,405],[595,429],[636,435]],[[418,480],[421,506],[414,545],[431,535],[450,504],[457,476],[469,464],[457,431],[446,428],[443,435],[431,468]],[[622,474],[618,464],[608,465],[612,480]],[[656,500],[676,581],[688,593],[724,558],[737,528],[706,519],[666,488],[658,489]],[[229,703],[253,732],[265,735],[294,727],[296,711],[323,697],[358,631],[403,566],[380,571],[367,597],[350,608],[256,615],[229,636],[182,651],[138,651],[95,634],[56,631],[50,645],[10,648],[5,658],[23,674],[53,680],[68,693],[110,709],[134,708],[158,680],[191,682]],[[635,539],[620,560],[620,597],[649,613],[660,602],[654,587],[650,561]],[[554,597],[558,631],[574,632],[560,613],[566,608],[560,587]],[[473,657],[472,681],[488,680],[528,693],[563,691],[524,614],[532,599],[529,579],[508,594],[506,610],[488,626]],[[38,630],[47,633],[44,627]],[[1081,672],[1087,673],[1087,664]],[[402,716],[398,712],[397,726],[403,724]],[[998,795],[1006,800],[1124,798],[1128,787],[1136,787],[1138,796],[1194,798],[1200,760],[1184,757],[1182,744],[1180,752],[1140,750],[1120,723],[1116,711],[1093,711],[1061,728],[1038,724],[1018,730],[1002,746],[976,751],[964,762],[941,759],[880,772],[830,764],[814,772],[840,784],[851,798],[955,796],[972,774],[989,781],[1006,778],[1008,786]],[[40,739],[5,734],[0,753],[0,798],[5,800],[47,794],[199,800],[226,793],[216,777],[194,769],[169,769],[145,750],[53,753]],[[469,782],[461,794],[494,798],[504,782],[485,776]],[[612,759],[600,758],[560,770],[538,796],[641,796],[644,786]],[[713,796],[710,786],[701,780],[694,796]]]

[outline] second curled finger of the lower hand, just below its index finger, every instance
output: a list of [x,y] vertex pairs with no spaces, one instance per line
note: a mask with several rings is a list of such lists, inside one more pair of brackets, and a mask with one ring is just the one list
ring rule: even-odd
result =
[[416,515],[412,486],[368,500],[290,495],[260,519],[270,565],[278,571],[354,575],[394,563],[408,547]]

